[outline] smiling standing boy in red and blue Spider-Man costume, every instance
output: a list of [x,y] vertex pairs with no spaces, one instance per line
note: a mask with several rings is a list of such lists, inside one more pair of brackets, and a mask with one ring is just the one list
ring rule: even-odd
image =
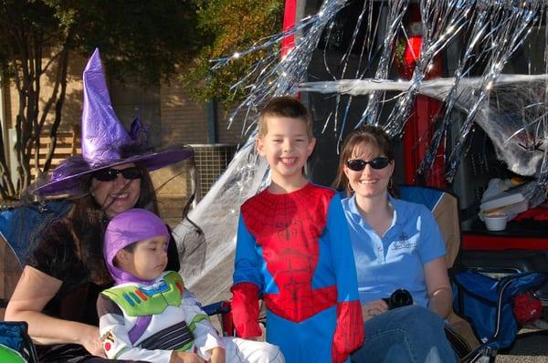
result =
[[231,289],[237,335],[261,335],[262,297],[267,340],[288,362],[345,361],[364,340],[362,310],[341,201],[302,173],[316,141],[309,111],[276,98],[258,122],[256,146],[272,181],[241,207]]

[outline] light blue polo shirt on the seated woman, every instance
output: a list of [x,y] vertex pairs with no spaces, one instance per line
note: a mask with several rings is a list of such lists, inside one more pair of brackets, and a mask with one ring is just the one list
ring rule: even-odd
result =
[[424,264],[445,256],[436,220],[422,204],[390,198],[394,219],[379,236],[359,213],[355,196],[342,200],[358,275],[360,301],[388,297],[405,288],[416,304],[427,306]]

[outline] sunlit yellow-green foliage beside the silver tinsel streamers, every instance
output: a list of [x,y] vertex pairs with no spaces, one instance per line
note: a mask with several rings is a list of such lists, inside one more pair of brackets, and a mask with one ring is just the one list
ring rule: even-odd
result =
[[242,78],[248,67],[263,56],[254,52],[211,72],[210,59],[227,57],[256,44],[265,36],[281,31],[283,0],[194,0],[198,7],[198,31],[205,39],[194,67],[184,74],[184,83],[196,99],[218,99],[230,109],[243,96],[243,90],[230,87]]

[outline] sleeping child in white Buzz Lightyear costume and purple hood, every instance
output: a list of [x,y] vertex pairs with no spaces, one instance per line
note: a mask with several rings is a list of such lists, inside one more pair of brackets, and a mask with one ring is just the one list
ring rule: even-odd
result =
[[132,209],[111,219],[103,254],[116,284],[97,301],[107,356],[166,363],[283,363],[279,348],[269,343],[219,337],[181,275],[163,271],[168,241],[167,228],[154,213]]

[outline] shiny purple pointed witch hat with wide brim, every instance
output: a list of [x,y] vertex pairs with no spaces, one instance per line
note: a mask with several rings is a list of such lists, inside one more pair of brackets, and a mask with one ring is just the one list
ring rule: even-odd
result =
[[151,150],[148,140],[143,140],[146,128],[139,119],[133,121],[131,134],[124,129],[112,109],[99,49],[90,57],[83,79],[82,154],[62,161],[51,173],[49,181],[35,192],[42,195],[74,192],[78,190],[79,179],[90,172],[129,162],[142,163],[147,170],[153,171],[194,155],[190,148]]

